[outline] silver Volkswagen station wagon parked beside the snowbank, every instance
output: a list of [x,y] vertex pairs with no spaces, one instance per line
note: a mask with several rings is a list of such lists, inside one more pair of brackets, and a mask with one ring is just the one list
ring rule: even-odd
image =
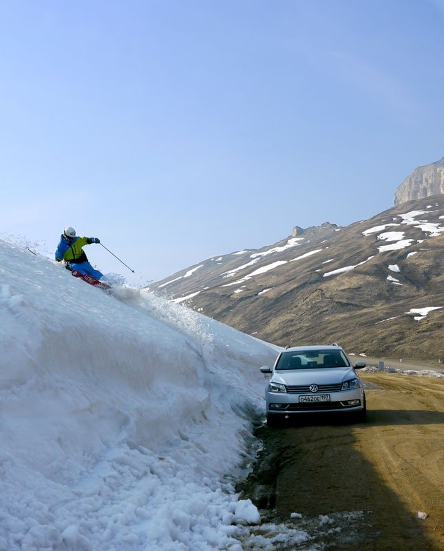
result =
[[282,351],[265,390],[268,425],[279,424],[300,413],[341,412],[357,422],[366,420],[366,395],[348,355],[337,344],[295,346]]

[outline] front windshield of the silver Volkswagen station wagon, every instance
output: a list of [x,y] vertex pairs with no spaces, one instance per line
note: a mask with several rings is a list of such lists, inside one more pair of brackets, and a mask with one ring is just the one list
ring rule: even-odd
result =
[[348,367],[350,362],[342,350],[298,350],[282,352],[275,369],[313,369],[323,367]]

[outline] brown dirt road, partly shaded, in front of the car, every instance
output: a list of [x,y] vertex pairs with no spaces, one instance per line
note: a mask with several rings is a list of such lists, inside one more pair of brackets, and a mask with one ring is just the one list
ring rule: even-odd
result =
[[361,378],[366,424],[258,428],[263,449],[240,490],[264,520],[314,534],[298,550],[444,551],[444,380]]

